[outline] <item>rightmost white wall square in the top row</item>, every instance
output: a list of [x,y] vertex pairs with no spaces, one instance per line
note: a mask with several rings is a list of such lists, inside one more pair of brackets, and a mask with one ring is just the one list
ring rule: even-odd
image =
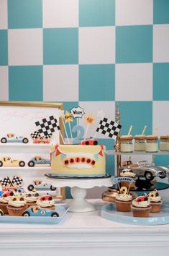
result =
[[149,25],[152,23],[152,0],[116,0],[116,25]]

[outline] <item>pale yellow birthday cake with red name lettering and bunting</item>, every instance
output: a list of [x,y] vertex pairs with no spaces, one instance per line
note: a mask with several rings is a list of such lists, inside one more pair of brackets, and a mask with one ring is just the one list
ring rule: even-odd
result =
[[103,176],[104,145],[55,145],[50,148],[51,172],[57,176]]

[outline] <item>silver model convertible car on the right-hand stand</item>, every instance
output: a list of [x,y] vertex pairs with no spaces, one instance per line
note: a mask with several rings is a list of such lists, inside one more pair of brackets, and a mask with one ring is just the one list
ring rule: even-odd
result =
[[119,168],[119,171],[122,172],[124,168],[129,168],[137,177],[145,177],[148,181],[151,181],[155,177],[164,179],[168,172],[167,167],[155,166],[147,161],[139,161],[129,166],[122,166]]

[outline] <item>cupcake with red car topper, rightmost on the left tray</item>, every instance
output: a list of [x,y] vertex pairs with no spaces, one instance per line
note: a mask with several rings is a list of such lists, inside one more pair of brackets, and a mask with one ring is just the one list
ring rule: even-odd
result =
[[52,195],[42,195],[37,200],[37,206],[40,208],[55,210],[55,200],[53,200]]

